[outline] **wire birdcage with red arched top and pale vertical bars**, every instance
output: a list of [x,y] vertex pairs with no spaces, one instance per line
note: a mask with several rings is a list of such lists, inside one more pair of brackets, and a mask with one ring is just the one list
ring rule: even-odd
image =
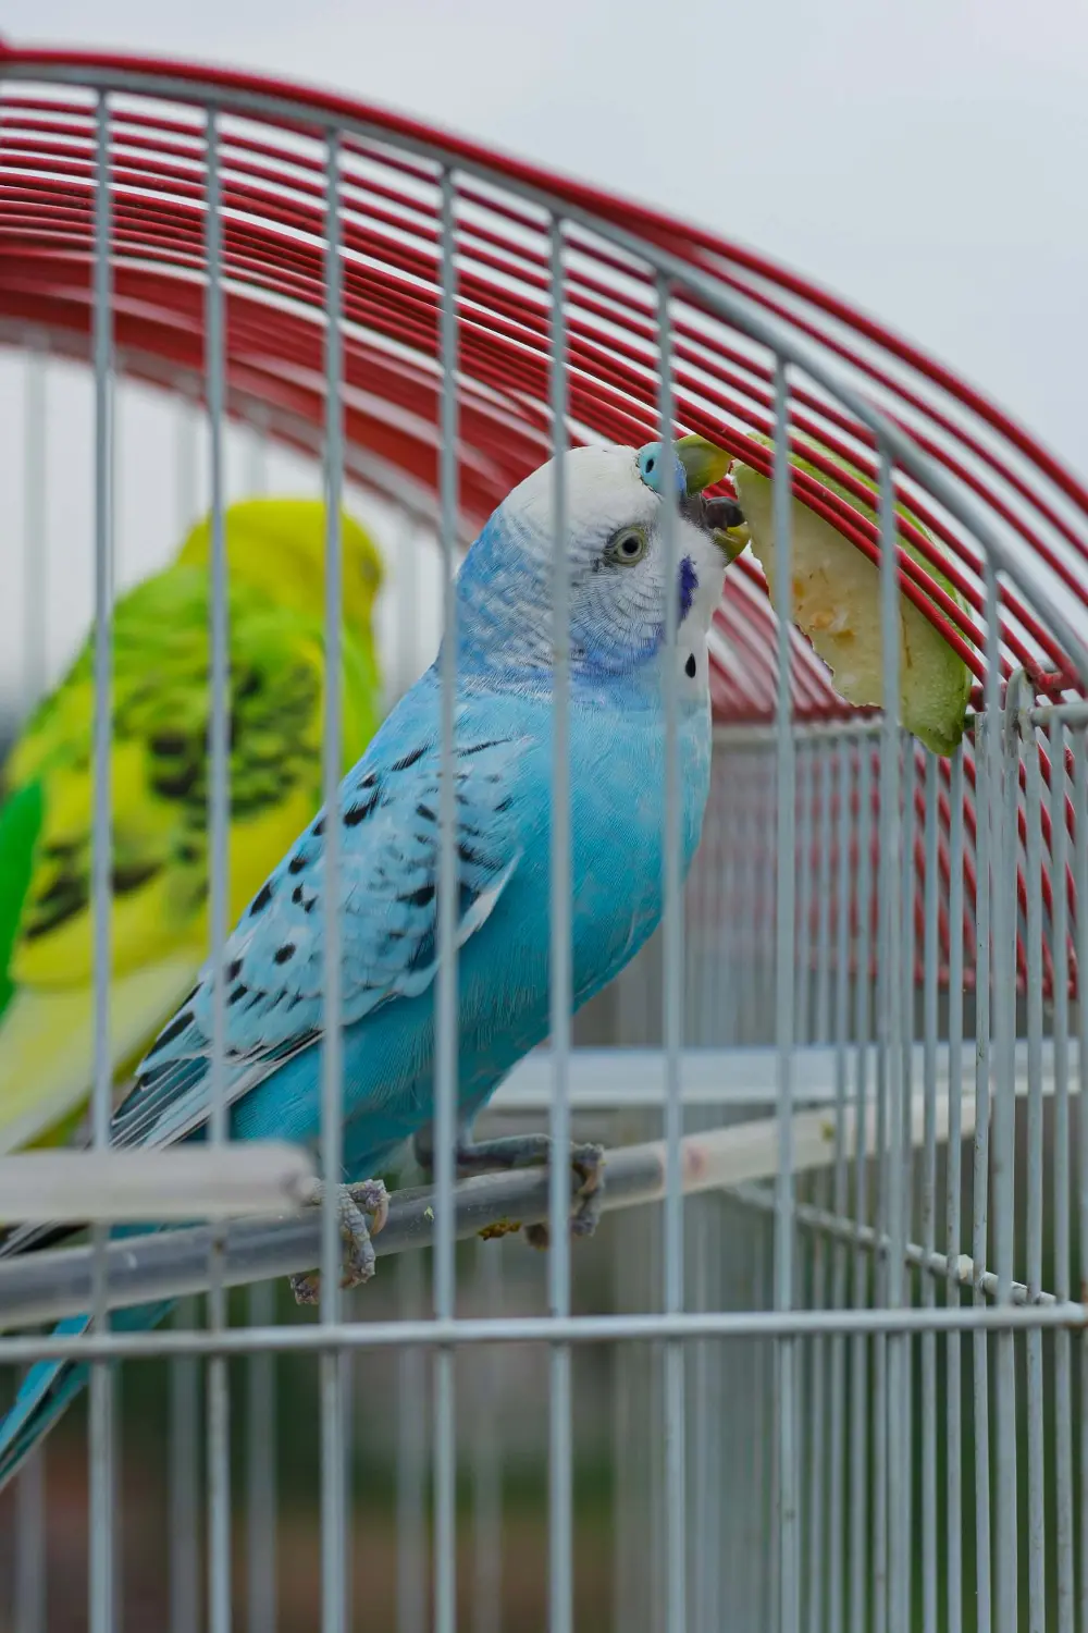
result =
[[[5,1625],[1088,1630],[1088,490],[827,292],[590,186],[245,73],[5,46],[0,77],[5,679],[28,707],[93,621],[98,768],[93,1148],[0,1161],[5,1218],[96,1221],[0,1262],[11,1382],[75,1355],[90,1406],[3,1499]],[[222,1099],[201,1150],[104,1150],[116,581],[212,511],[219,947],[232,495],[372,521],[391,701],[522,477],[662,433],[770,477],[780,572],[773,606],[750,554],[726,573],[687,887],[669,795],[661,932],[574,1021],[556,978],[484,1115],[604,1140],[604,1221],[563,1246],[561,1164],[453,1184],[449,916],[434,1190],[341,1298],[302,1156],[245,1156]],[[876,563],[882,697],[907,604],[966,665],[946,756],[843,704],[794,627],[791,498]],[[675,730],[674,699],[674,771]],[[559,820],[551,865],[569,980]],[[204,1223],[106,1241],[148,1210]],[[548,1256],[507,1231],[543,1218]],[[318,1257],[300,1319],[271,1279]],[[170,1324],[109,1328],[148,1297]]]

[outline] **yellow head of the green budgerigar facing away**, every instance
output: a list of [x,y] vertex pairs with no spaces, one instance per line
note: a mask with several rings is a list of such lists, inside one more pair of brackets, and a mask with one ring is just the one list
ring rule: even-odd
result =
[[[230,581],[253,585],[272,601],[313,617],[325,614],[325,505],[321,500],[241,500],[223,516]],[[374,601],[382,586],[382,557],[359,523],[341,511],[344,622],[370,632]],[[181,545],[178,562],[209,567],[212,518],[197,523]]]

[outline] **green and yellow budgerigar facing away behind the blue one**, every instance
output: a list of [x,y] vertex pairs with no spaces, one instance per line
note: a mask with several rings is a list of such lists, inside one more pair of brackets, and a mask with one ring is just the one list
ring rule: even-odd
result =
[[[228,923],[321,802],[325,505],[246,500],[230,567]],[[382,558],[343,518],[343,763],[380,719]],[[109,1040],[139,1060],[209,952],[210,523],[114,609]],[[34,710],[0,805],[0,1153],[64,1138],[93,1079],[93,647]]]

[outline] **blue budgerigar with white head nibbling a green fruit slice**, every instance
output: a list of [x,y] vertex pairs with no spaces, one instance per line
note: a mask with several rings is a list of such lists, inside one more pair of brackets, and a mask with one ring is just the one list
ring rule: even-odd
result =
[[[662,913],[666,683],[679,697],[682,862],[698,844],[710,782],[706,635],[736,506],[705,496],[728,456],[700,438],[581,447],[566,461],[571,634],[573,986],[584,1004],[638,952]],[[546,1137],[473,1145],[473,1119],[548,1034],[553,683],[553,465],[494,511],[457,580],[458,1169],[545,1161]],[[667,572],[666,501],[675,572]],[[667,598],[675,598],[675,645]],[[235,1140],[316,1145],[321,1106],[325,834],[339,826],[347,1282],[374,1269],[374,1176],[413,1137],[434,1096],[440,660],[401,699],[248,905],[223,950],[225,1091]],[[113,1124],[117,1146],[204,1137],[212,970],[140,1063]],[[584,1179],[573,1228],[592,1228],[599,1148],[576,1148]],[[329,1176],[326,1176],[329,1177]],[[16,1233],[3,1249],[41,1236]],[[313,1277],[295,1279],[302,1298]],[[165,1306],[121,1311],[147,1328]],[[80,1331],[82,1319],[62,1331]],[[82,1388],[80,1364],[33,1368],[0,1424],[0,1483]]]

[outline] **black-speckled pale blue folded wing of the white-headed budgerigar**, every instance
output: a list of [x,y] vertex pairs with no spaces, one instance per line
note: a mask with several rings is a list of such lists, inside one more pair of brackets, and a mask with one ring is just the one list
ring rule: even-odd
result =
[[[393,722],[390,722],[393,725]],[[458,730],[457,882],[463,944],[519,862],[517,735]],[[422,993],[437,970],[439,743],[383,732],[339,795],[343,1016]],[[323,1026],[326,815],[320,813],[266,880],[223,952],[227,1101],[240,1099]],[[119,1145],[165,1145],[209,1112],[212,975],[181,1006],[142,1061],[114,1119]]]

